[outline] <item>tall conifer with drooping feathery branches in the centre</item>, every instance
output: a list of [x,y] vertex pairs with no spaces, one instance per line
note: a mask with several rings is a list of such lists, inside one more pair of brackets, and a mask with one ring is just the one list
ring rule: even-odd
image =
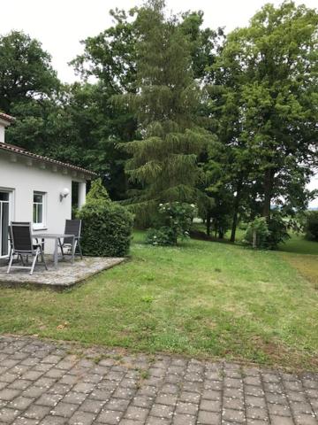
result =
[[133,205],[148,211],[159,202],[193,201],[197,158],[210,140],[197,122],[201,89],[193,81],[190,43],[164,4],[150,1],[136,20],[136,93],[120,97],[136,114],[140,140],[125,143],[126,171],[139,185]]

